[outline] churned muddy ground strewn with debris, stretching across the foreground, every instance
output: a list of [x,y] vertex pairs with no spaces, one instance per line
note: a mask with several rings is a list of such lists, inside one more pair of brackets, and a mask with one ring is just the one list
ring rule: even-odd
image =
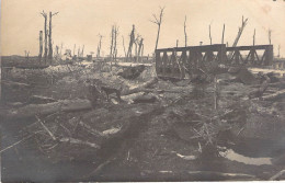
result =
[[[284,101],[249,99],[263,81],[259,76],[249,77],[250,84],[229,72],[198,81],[157,79],[123,101],[90,90],[100,80],[128,93],[157,77],[147,66],[124,79],[126,69],[12,69],[2,88],[2,181],[269,180],[285,169]],[[264,95],[282,88],[269,87]],[[22,107],[76,99],[92,106],[8,117]]]

